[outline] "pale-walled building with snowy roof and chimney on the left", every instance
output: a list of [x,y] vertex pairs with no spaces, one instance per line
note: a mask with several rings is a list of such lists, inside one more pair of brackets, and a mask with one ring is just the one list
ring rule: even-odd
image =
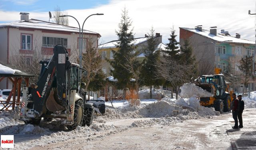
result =
[[[76,62],[79,56],[79,28],[64,26],[52,22],[30,19],[28,13],[20,13],[21,20],[0,24],[0,62],[12,64],[16,61],[12,56],[22,54],[30,63],[36,51],[45,59],[53,54],[56,44],[64,45],[70,55],[70,60]],[[88,40],[98,47],[100,34],[88,30],[83,31],[83,52],[86,51]],[[39,63],[40,60],[38,60]],[[12,83],[8,80],[0,82],[0,89],[10,89]]]

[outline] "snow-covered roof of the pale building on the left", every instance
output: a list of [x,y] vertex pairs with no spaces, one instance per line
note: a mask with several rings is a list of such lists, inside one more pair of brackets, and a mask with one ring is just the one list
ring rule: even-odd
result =
[[[29,22],[25,22],[24,20],[19,20],[15,22],[0,24],[0,28],[5,26],[11,26],[16,28],[34,28],[34,29],[41,29],[41,30],[56,30],[56,31],[67,31],[67,32],[79,33],[79,28],[76,28],[76,27],[64,26],[64,25],[55,24],[52,22],[45,22],[45,21],[36,20],[36,19],[30,19]],[[98,34],[96,32],[92,32],[88,30],[83,30],[83,32],[90,33],[90,34]]]

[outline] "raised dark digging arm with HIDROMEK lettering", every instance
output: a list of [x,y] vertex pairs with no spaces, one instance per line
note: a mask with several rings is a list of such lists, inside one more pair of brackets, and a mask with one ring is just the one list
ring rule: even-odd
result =
[[34,118],[43,116],[46,113],[46,100],[52,87],[57,88],[57,96],[60,105],[68,110],[66,93],[68,84],[66,83],[66,70],[71,63],[68,61],[68,52],[63,45],[56,45],[53,49],[53,56],[48,65],[41,71],[35,88],[28,96],[27,107],[34,110]]

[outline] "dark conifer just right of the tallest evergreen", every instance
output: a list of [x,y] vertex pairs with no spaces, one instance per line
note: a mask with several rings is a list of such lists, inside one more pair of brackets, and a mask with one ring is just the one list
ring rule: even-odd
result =
[[161,80],[157,79],[155,72],[157,70],[156,63],[160,57],[158,49],[158,41],[154,38],[153,28],[150,30],[150,36],[147,40],[147,46],[143,49],[145,59],[142,63],[142,71],[140,78],[145,86],[150,86],[150,98],[152,98],[152,86],[162,85]]

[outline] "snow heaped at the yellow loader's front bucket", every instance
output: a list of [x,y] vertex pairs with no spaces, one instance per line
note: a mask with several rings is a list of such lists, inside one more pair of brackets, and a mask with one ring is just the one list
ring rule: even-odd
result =
[[203,90],[196,84],[185,83],[183,86],[180,87],[180,96],[182,98],[190,98],[190,97],[211,97],[212,94]]

